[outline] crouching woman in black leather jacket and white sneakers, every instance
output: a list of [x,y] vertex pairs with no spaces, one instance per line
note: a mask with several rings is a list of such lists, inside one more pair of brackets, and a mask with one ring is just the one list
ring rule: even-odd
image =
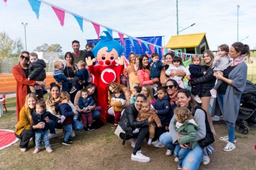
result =
[[[143,94],[138,94],[135,103],[125,108],[122,118],[119,121],[119,126],[125,133],[120,133],[122,139],[131,139],[134,152],[131,155],[133,161],[149,162],[150,158],[141,153],[141,146],[144,138],[149,133],[149,123],[153,123],[152,116],[148,120],[137,122],[135,119],[142,107],[142,102],[146,100]],[[139,133],[134,134],[135,128],[141,128]],[[136,139],[137,138],[137,141]]]

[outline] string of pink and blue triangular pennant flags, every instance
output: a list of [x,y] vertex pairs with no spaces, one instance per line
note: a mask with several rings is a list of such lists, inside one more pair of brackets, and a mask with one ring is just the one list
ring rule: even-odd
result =
[[[3,0],[3,1],[7,5],[7,0]],[[179,56],[182,56],[182,57],[189,56],[190,58],[192,58],[192,56],[193,56],[193,54],[182,53],[182,52],[175,51],[175,50],[172,50],[172,49],[167,49],[167,48],[164,48],[162,46],[159,46],[159,45],[156,45],[156,44],[153,44],[153,43],[141,40],[139,38],[130,36],[128,34],[122,33],[120,31],[117,31],[117,30],[112,29],[110,27],[107,27],[107,26],[104,26],[102,24],[96,23],[96,22],[94,22],[92,20],[84,18],[84,17],[82,17],[80,15],[72,13],[72,12],[66,10],[66,9],[60,8],[60,7],[56,6],[56,5],[50,4],[50,3],[46,2],[46,1],[43,1],[43,0],[28,0],[28,2],[30,4],[32,10],[35,12],[37,19],[39,19],[40,5],[41,5],[41,3],[43,3],[43,4],[48,5],[48,6],[50,6],[52,8],[52,10],[55,12],[58,20],[60,21],[60,25],[61,26],[64,25],[65,13],[74,16],[74,18],[77,21],[77,23],[78,23],[78,25],[79,25],[79,27],[80,27],[82,32],[83,32],[83,21],[90,22],[93,25],[94,29],[95,29],[95,32],[97,34],[97,38],[98,39],[99,39],[99,34],[100,34],[100,27],[103,27],[103,28],[105,28],[109,32],[109,34],[111,36],[112,36],[112,32],[113,31],[118,33],[118,36],[120,37],[120,40],[121,40],[122,44],[124,44],[124,35],[125,35],[125,36],[127,36],[129,38],[129,40],[131,41],[133,47],[134,47],[134,40],[136,40],[136,41],[138,41],[138,43],[140,44],[141,47],[142,47],[142,43],[143,43],[148,50],[151,50],[152,53],[155,53],[155,49],[156,49],[156,52],[159,53],[159,50],[161,50],[161,52],[163,54],[166,54],[168,52],[174,52],[176,55],[179,55]]]

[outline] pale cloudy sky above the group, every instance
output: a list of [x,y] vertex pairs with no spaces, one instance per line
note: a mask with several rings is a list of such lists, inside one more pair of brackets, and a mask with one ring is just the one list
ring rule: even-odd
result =
[[[87,18],[133,37],[164,36],[165,46],[171,36],[177,34],[176,0],[45,0],[65,10]],[[218,45],[229,46],[237,41],[237,5],[239,8],[239,41],[256,48],[256,1],[255,0],[179,0],[179,26],[186,28],[179,34],[206,32],[211,50]],[[32,52],[43,43],[62,46],[63,52],[72,51],[71,42],[80,41],[85,48],[86,39],[97,39],[90,22],[83,22],[83,32],[70,14],[65,14],[64,26],[50,6],[41,3],[39,19],[28,0],[8,0],[7,6],[0,0],[0,32],[10,38],[20,37],[25,48]],[[101,28],[100,31],[104,31]],[[182,28],[179,28],[182,30]],[[114,38],[119,38],[113,32]],[[125,36],[124,36],[125,37]]]

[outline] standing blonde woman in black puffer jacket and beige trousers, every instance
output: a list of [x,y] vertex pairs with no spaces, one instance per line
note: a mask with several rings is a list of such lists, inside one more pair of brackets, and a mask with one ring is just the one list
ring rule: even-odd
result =
[[201,108],[207,112],[207,119],[209,121],[212,133],[216,135],[215,129],[213,127],[211,113],[209,111],[210,100],[211,100],[211,93],[210,90],[214,87],[216,78],[213,76],[213,61],[214,61],[214,54],[211,50],[206,50],[203,53],[204,61],[201,65],[201,72],[203,73],[206,71],[206,74],[198,79],[191,81],[189,84],[192,86],[191,93],[194,93],[194,87],[197,84],[201,84],[201,93],[199,97],[202,100]]

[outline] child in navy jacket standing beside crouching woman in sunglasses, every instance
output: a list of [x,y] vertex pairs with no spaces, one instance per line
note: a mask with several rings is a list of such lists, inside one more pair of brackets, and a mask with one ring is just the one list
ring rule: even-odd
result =
[[[171,104],[170,104],[170,97],[165,89],[165,87],[160,86],[157,88],[157,101],[154,103],[154,108],[156,109],[156,113],[158,117],[161,120],[162,127],[156,127],[156,132],[158,139],[160,135],[162,135],[165,132],[165,121],[168,117],[168,114],[170,112]],[[162,145],[158,140],[155,142],[152,142],[154,147],[156,148],[162,148],[165,147]]]

